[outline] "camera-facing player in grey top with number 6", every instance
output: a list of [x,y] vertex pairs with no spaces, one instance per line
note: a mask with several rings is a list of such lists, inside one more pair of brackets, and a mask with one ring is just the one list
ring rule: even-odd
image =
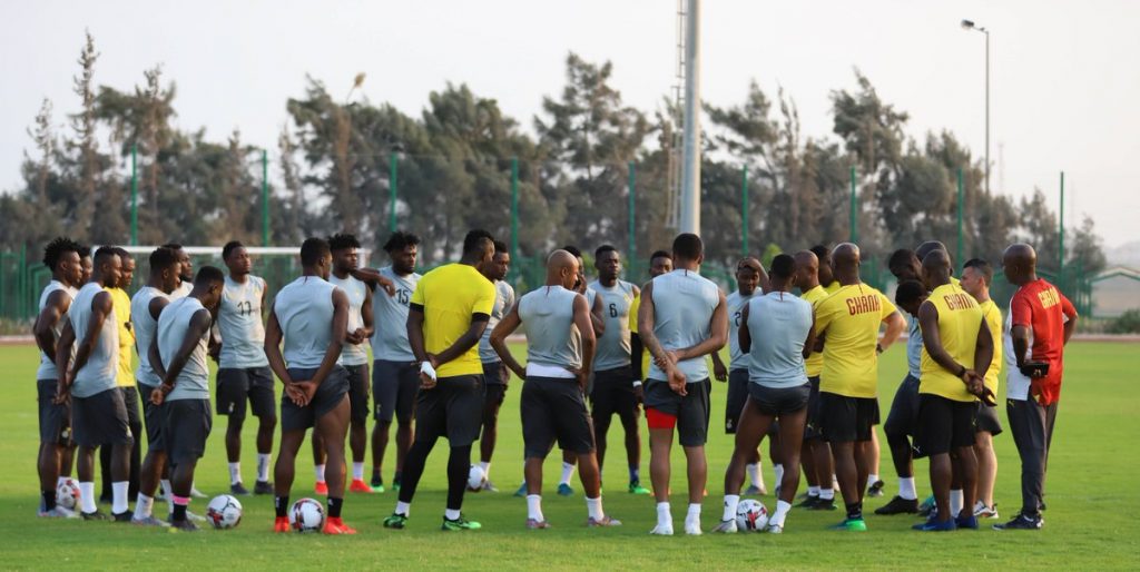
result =
[[628,490],[632,495],[649,495],[641,485],[641,400],[634,386],[630,368],[629,310],[641,288],[618,278],[621,255],[604,244],[594,251],[597,280],[589,285],[602,307],[604,333],[597,338],[594,359],[594,383],[589,391],[593,403],[594,435],[597,439],[597,464],[605,466],[606,434],[617,414],[625,430],[626,466],[629,469]]

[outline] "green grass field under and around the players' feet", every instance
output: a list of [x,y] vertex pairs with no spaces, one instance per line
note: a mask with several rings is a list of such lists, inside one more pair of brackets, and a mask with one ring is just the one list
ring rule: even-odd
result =
[[[605,509],[625,526],[588,530],[586,507],[576,482],[576,496],[553,493],[560,459],[548,459],[544,512],[553,529],[528,531],[526,504],[511,492],[521,477],[522,438],[519,420],[518,381],[512,382],[500,416],[499,447],[491,479],[503,489],[497,495],[467,495],[464,513],[483,523],[483,530],[449,534],[439,531],[445,497],[446,449],[437,447],[413,506],[409,528],[385,530],[381,520],[391,513],[394,495],[351,495],[345,502],[345,521],[359,530],[356,537],[270,532],[272,500],[243,499],[245,517],[231,531],[199,534],[168,534],[153,529],[112,523],[44,521],[36,518],[39,493],[35,479],[38,441],[34,390],[35,350],[32,346],[0,346],[0,371],[8,399],[0,401],[0,569],[141,569],[187,565],[194,569],[686,569],[728,570],[748,567],[813,569],[1010,569],[1081,567],[1084,570],[1140,567],[1140,488],[1134,476],[1140,467],[1135,439],[1140,436],[1140,399],[1131,383],[1137,381],[1140,345],[1074,343],[1066,357],[1066,389],[1058,415],[1057,434],[1050,456],[1047,525],[1040,532],[980,530],[948,534],[912,532],[917,522],[909,516],[868,516],[870,532],[840,533],[826,530],[841,518],[836,513],[792,510],[783,536],[705,534],[690,538],[656,538],[648,534],[656,520],[653,500],[632,497],[624,490],[624,451],[620,424],[610,432],[612,463]],[[886,407],[905,371],[902,345],[891,348],[882,360],[880,401]],[[714,386],[714,406],[708,446],[709,497],[705,502],[706,530],[720,515],[723,471],[731,453],[731,440],[719,427],[724,420],[725,390]],[[1004,423],[1004,414],[1001,415]],[[222,436],[225,419],[214,419],[206,457],[198,465],[197,485],[209,495],[228,489]],[[253,477],[253,432],[247,427],[243,471]],[[643,431],[644,433],[644,431]],[[880,439],[882,435],[880,434]],[[896,490],[890,474],[889,452],[882,441],[880,473],[888,495],[869,499],[868,513],[889,499]],[[1012,516],[1020,505],[1019,461],[1009,433],[996,439],[999,475],[996,501],[1002,517]],[[766,451],[766,447],[764,449]],[[302,451],[308,451],[303,448]],[[391,455],[390,450],[390,455]],[[276,457],[275,457],[276,458]],[[311,461],[302,453],[293,498],[311,496]],[[684,465],[674,456],[673,490],[684,490]],[[642,461],[649,481],[649,452]],[[391,466],[391,461],[389,461]],[[917,463],[920,495],[926,495],[926,463]],[[618,476],[620,475],[620,476]],[[385,474],[385,481],[391,475]],[[772,488],[771,467],[765,463],[765,481]],[[803,482],[803,481],[801,481]],[[806,487],[806,484],[801,484]],[[324,499],[321,499],[324,500]],[[774,500],[763,497],[769,507]],[[674,498],[674,517],[681,531],[685,500]],[[107,509],[106,507],[104,509]],[[192,509],[203,512],[204,502]],[[157,512],[157,508],[156,508]],[[988,529],[990,523],[985,523]]]

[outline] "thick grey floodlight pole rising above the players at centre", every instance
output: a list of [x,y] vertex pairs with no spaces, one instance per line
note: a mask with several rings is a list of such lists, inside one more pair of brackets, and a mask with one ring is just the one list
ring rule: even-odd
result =
[[700,0],[689,0],[685,17],[685,124],[683,134],[681,230],[701,234]]

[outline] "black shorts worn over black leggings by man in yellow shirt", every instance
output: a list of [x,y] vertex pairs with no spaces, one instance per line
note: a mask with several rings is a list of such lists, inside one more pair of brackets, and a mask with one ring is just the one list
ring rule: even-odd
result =
[[479,439],[483,424],[483,376],[440,377],[416,395],[416,441],[446,436],[451,447]]

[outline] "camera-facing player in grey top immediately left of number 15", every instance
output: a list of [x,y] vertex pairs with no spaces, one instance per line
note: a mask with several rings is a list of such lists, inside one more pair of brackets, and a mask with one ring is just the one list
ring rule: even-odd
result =
[[[328,281],[344,291],[349,299],[349,328],[341,350],[340,363],[349,377],[349,448],[352,451],[352,492],[372,492],[364,480],[364,457],[368,447],[368,338],[373,336],[372,288],[353,272],[360,268],[360,243],[352,235],[333,235],[328,238],[333,252],[333,271]],[[314,428],[314,435],[319,431]],[[317,472],[317,488],[325,483],[325,451],[317,436],[312,439],[312,463]]]

